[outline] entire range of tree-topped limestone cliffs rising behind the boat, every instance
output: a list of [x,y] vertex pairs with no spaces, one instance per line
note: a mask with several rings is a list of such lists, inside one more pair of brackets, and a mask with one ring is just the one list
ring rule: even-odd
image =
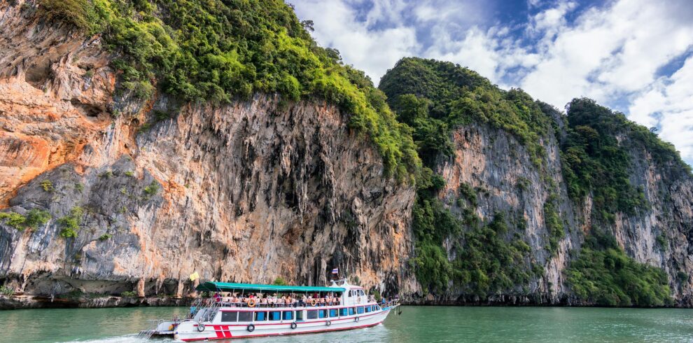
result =
[[0,2],[3,293],[338,267],[411,302],[692,304],[693,179],[656,135],[444,62],[377,90],[304,27],[281,1]]

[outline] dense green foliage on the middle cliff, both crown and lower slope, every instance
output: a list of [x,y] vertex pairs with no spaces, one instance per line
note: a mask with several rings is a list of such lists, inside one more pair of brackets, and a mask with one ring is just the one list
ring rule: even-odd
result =
[[[438,158],[454,153],[452,130],[469,123],[510,132],[540,167],[545,158],[540,139],[552,132],[540,106],[521,90],[500,90],[474,71],[433,59],[401,59],[379,87],[398,120],[412,127],[424,165],[412,210],[416,257],[411,264],[419,282],[432,292],[454,286],[485,297],[526,285],[534,274],[541,275],[540,266],[531,263],[526,242],[508,237],[508,223],[517,226],[510,216],[497,213],[482,223],[475,214],[477,190],[463,184],[458,200],[463,216],[458,219],[437,199],[445,182],[432,171]],[[449,242],[456,251],[453,260],[443,248],[448,237],[453,237]]]

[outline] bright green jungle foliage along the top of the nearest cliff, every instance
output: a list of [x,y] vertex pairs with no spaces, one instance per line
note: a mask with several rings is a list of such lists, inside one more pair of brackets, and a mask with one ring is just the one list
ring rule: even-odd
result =
[[[407,127],[384,94],[339,52],[319,47],[281,0],[38,0],[48,20],[103,34],[118,56],[123,89],[141,98],[156,88],[188,101],[229,102],[255,92],[296,101],[317,96],[351,114],[370,136],[386,172],[412,180],[420,167]],[[156,85],[156,86],[155,86]]]

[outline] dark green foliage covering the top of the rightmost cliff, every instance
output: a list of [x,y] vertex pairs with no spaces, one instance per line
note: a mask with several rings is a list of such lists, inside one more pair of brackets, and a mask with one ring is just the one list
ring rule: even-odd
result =
[[567,114],[568,136],[561,145],[561,162],[568,195],[582,200],[591,194],[596,216],[607,223],[617,211],[633,214],[649,206],[643,190],[629,181],[630,149],[645,149],[654,162],[676,175],[690,172],[672,144],[623,113],[591,99],[573,99]]

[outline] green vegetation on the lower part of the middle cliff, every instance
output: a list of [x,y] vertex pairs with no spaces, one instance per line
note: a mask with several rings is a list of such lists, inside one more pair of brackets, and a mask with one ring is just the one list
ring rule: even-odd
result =
[[[498,212],[488,223],[482,223],[474,209],[466,207],[463,220],[458,220],[428,194],[434,190],[420,189],[412,210],[416,256],[410,263],[421,285],[437,293],[451,283],[466,294],[483,298],[512,292],[530,281],[535,274],[533,265],[528,264],[530,247],[519,237],[508,239],[505,214]],[[443,248],[446,240],[456,253],[452,260]]]

